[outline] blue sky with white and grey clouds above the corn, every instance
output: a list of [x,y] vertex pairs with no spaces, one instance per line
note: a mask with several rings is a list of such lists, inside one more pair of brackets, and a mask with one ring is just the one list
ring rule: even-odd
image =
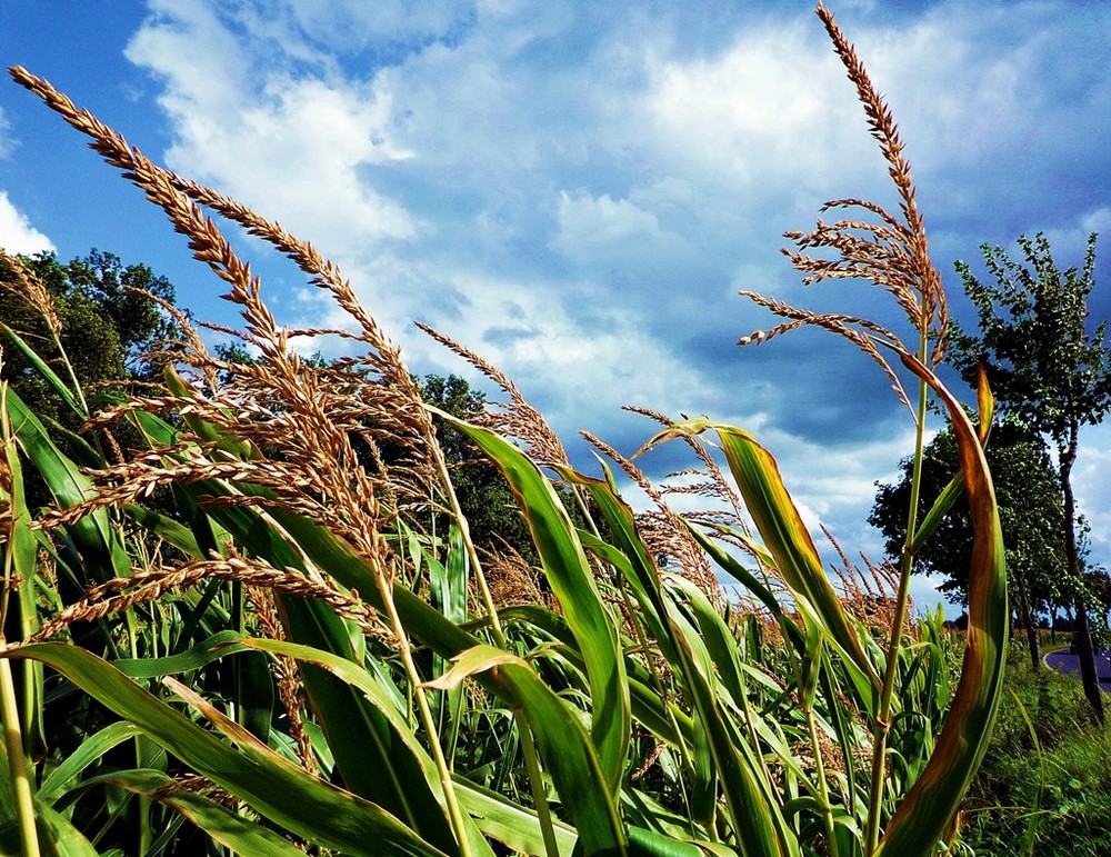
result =
[[[980,243],[1044,231],[1070,266],[1111,232],[1111,7],[831,8],[900,123],[958,318],[952,262]],[[4,0],[0,60],[311,240],[416,371],[467,373],[420,319],[506,370],[568,441],[584,428],[632,451],[653,426],[627,403],[732,421],[777,455],[808,521],[881,554],[873,484],[911,437],[882,376],[818,332],[735,345],[771,323],[741,288],[898,318],[864,285],[802,287],[779,252],[828,199],[892,201],[808,3]],[[160,212],[11,83],[0,245],[110,250],[234,321]],[[296,269],[242,248],[282,320],[341,323]],[[1111,317],[1101,256],[1095,319]],[[1111,431],[1082,442],[1078,494],[1111,565]],[[915,594],[931,600],[925,581]]]

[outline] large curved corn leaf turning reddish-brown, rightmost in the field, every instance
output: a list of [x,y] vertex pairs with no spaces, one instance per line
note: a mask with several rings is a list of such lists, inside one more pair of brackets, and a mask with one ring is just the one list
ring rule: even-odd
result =
[[[922,775],[892,816],[878,855],[931,855],[944,836],[988,749],[1003,692],[1007,659],[1007,567],[999,509],[981,438],[960,402],[922,363],[900,355],[949,411],[961,472],[972,511],[972,567],[969,571],[969,631],[964,666],[938,738]],[[981,380],[981,401],[989,393]],[[989,410],[981,403],[981,412]]]

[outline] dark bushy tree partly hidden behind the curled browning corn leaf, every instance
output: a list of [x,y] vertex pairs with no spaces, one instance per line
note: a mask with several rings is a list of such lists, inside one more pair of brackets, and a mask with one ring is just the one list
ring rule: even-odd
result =
[[[1065,555],[1058,476],[1041,436],[1014,419],[1003,420],[992,430],[985,452],[999,501],[1008,579],[1018,594],[1015,609],[1027,629],[1031,662],[1038,669],[1041,652],[1035,616],[1068,595],[1062,590],[1060,575]],[[957,444],[952,431],[947,429],[925,448],[920,519],[959,467]],[[885,537],[891,556],[898,555],[905,542],[911,460],[904,460],[901,469],[902,477],[894,485],[878,484],[875,505],[868,519]],[[957,500],[938,530],[919,549],[915,560],[915,571],[941,576],[944,580],[938,588],[960,604],[968,604],[972,520],[964,497]]]

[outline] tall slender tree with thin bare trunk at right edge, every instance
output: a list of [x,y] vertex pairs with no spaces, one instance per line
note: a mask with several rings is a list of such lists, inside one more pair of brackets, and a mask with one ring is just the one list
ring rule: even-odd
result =
[[957,263],[977,309],[979,332],[954,335],[952,360],[970,382],[977,363],[983,365],[1000,410],[1055,447],[1065,569],[1075,584],[1077,649],[1085,696],[1093,716],[1103,723],[1072,490],[1080,427],[1100,422],[1111,409],[1107,323],[1091,333],[1087,323],[1088,297],[1095,285],[1095,235],[1088,239],[1083,268],[1065,271],[1058,269],[1043,235],[1022,236],[1018,245],[1025,265],[999,247],[981,248],[994,282],[981,282],[968,265]]

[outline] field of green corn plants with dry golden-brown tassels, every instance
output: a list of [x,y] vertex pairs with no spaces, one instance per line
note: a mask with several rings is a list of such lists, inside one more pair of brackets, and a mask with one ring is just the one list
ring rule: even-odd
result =
[[[602,440],[611,466],[577,471],[510,379],[433,330],[507,400],[471,422],[427,406],[311,245],[11,70],[164,210],[243,321],[223,331],[240,350],[214,355],[163,303],[186,341],[161,382],[96,401],[57,325],[46,343],[4,331],[84,429],[0,387],[0,851],[905,857],[959,840],[1008,638],[992,400],[981,385],[973,425],[935,375],[945,297],[902,143],[819,17],[900,205],[830,202],[845,219],[789,233],[789,257],[808,281],[871,280],[907,332],[745,293],[783,323],[742,342],[817,326],[862,349],[905,403],[919,459],[929,402],[948,415],[961,472],[922,519],[915,497],[897,567],[827,568],[742,428],[645,415],[659,425],[644,455],[687,445],[712,506],[680,515]],[[210,217],[329,292],[357,325],[352,356],[299,357],[328,331],[281,326]],[[42,285],[4,265],[49,325]],[[512,490],[534,562],[471,537],[449,428]],[[622,481],[654,506],[634,512]],[[32,486],[51,501],[30,504]],[[950,639],[940,614],[911,616],[908,586],[961,491],[970,624]]]

